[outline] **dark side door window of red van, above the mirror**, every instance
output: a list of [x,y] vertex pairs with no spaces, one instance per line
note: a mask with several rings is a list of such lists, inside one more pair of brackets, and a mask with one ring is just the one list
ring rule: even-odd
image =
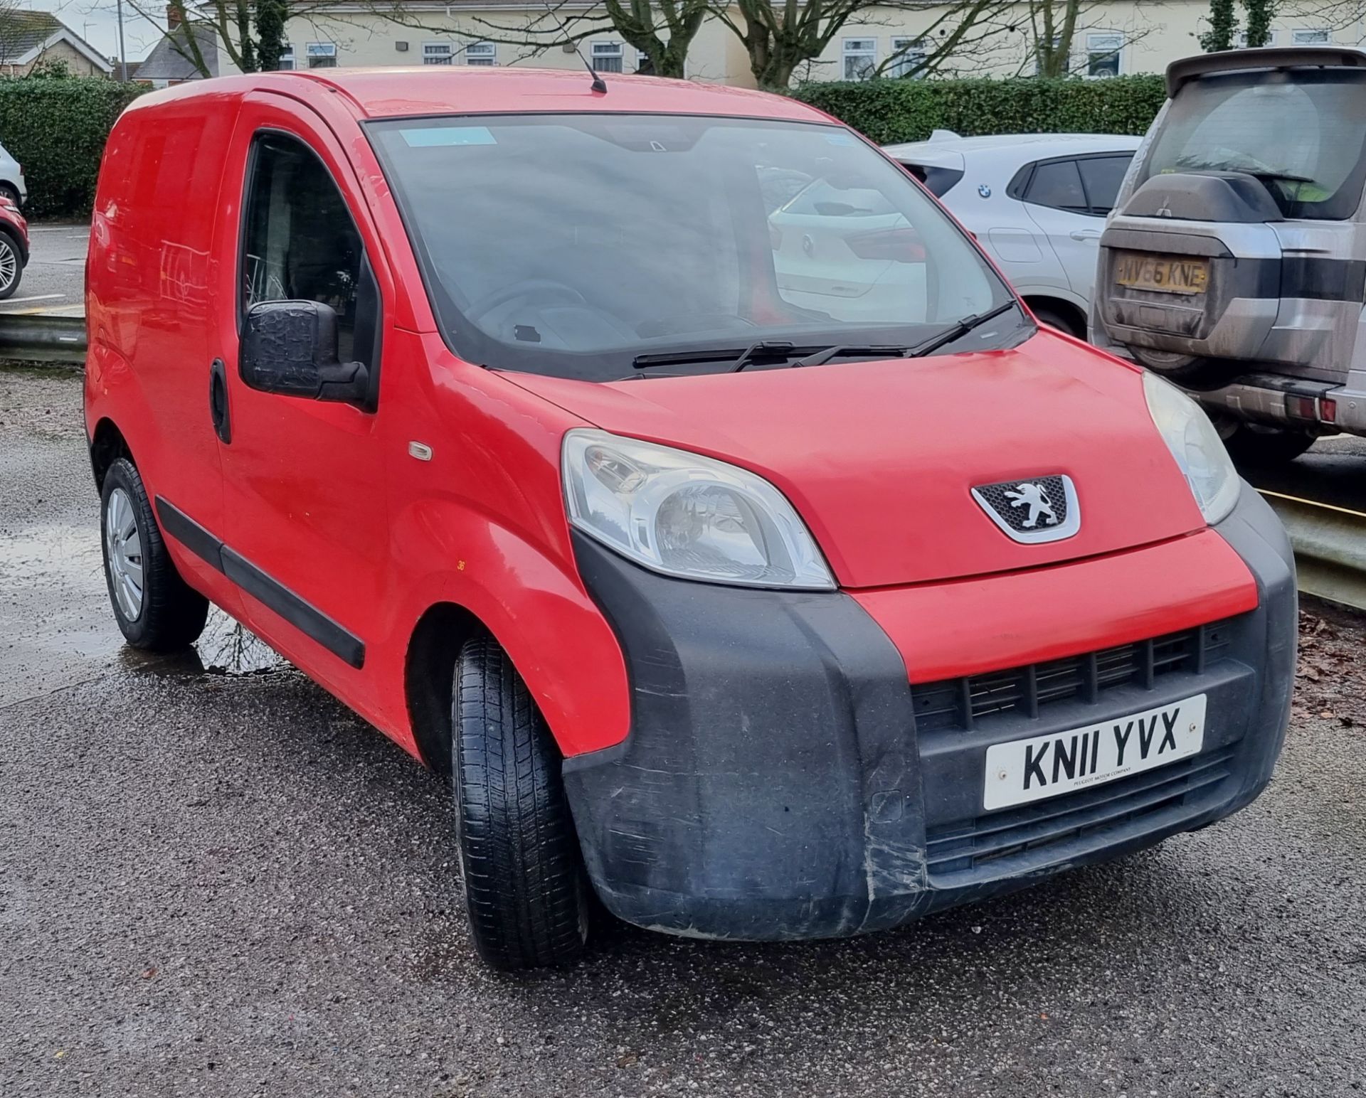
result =
[[257,138],[246,209],[243,313],[275,300],[329,305],[337,314],[337,355],[350,362],[365,247],[322,161],[295,138]]

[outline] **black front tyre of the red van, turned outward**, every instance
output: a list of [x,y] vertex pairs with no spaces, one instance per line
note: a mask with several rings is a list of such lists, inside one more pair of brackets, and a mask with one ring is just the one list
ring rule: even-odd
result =
[[494,968],[566,964],[587,942],[589,886],[560,755],[492,638],[455,666],[451,769],[474,948]]

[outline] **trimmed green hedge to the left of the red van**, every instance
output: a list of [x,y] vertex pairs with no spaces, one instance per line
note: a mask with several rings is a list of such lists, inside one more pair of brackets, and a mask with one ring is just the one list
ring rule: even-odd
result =
[[100,76],[0,78],[0,143],[23,165],[29,217],[83,217],[113,122],[146,86]]

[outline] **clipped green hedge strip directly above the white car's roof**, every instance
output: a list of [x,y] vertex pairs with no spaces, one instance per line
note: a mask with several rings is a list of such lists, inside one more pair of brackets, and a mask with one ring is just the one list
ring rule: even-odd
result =
[[1108,81],[907,81],[806,83],[796,98],[878,145],[932,130],[973,134],[1143,134],[1167,98],[1158,75]]

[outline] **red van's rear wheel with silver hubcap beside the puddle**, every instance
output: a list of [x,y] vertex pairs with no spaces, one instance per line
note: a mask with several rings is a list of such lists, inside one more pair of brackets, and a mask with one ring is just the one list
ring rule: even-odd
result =
[[204,631],[209,601],[176,571],[133,462],[119,458],[100,493],[104,579],[119,630],[135,649],[183,649]]

